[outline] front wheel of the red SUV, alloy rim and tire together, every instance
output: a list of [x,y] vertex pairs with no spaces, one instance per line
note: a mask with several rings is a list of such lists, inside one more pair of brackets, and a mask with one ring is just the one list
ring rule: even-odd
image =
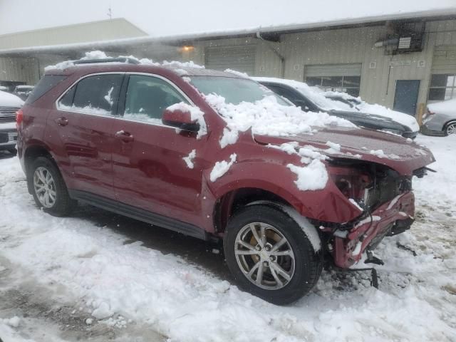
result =
[[296,222],[299,214],[293,212],[252,204],[227,224],[224,253],[234,279],[243,289],[273,304],[300,299],[321,274],[321,252],[315,241],[319,243],[318,233],[302,217],[299,221],[306,227],[301,227]]

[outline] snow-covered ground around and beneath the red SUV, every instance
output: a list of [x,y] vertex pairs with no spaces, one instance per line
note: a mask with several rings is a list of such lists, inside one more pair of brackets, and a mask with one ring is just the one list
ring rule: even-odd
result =
[[437,173],[415,180],[413,229],[378,247],[380,289],[368,272],[323,271],[291,306],[232,285],[217,246],[90,207],[41,212],[18,160],[1,159],[0,338],[456,341],[456,136],[418,142]]

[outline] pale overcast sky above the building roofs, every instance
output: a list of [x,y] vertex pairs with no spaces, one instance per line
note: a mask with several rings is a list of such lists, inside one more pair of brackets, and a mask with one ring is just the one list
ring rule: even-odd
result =
[[436,10],[456,0],[0,0],[0,34],[125,17],[151,36]]

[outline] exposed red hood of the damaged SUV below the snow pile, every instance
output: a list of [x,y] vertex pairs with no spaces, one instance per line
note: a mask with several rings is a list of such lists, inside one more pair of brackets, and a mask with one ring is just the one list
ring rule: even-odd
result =
[[[300,147],[311,145],[321,149],[331,158],[364,160],[386,165],[402,175],[413,175],[413,171],[435,161],[432,152],[410,139],[388,133],[361,128],[316,128],[317,133],[274,137],[254,135],[264,145],[281,145],[298,142]],[[330,149],[327,142],[341,145],[341,150]]]

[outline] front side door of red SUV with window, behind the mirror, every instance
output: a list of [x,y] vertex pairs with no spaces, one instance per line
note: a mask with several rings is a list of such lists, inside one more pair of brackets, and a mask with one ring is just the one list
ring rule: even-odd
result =
[[180,102],[190,100],[165,78],[129,76],[125,113],[113,128],[114,188],[121,204],[197,225],[206,136],[178,133],[161,121],[163,110]]

